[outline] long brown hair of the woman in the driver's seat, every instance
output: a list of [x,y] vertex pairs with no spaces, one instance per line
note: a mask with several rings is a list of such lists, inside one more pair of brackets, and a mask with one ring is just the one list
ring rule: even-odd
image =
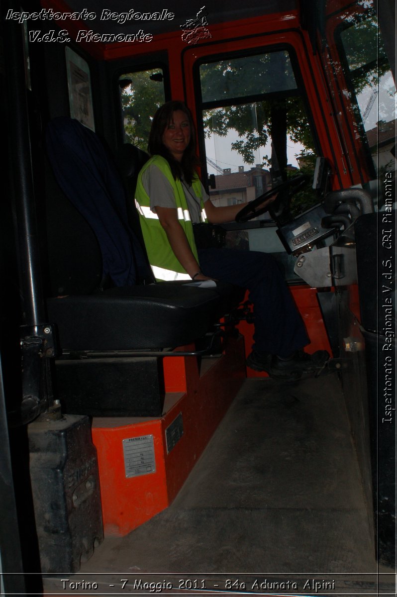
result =
[[[168,125],[173,122],[173,113],[176,112],[176,110],[181,110],[186,114],[190,125],[190,141],[183,152],[180,162],[174,158],[162,142],[163,133]],[[192,184],[192,180],[196,176],[196,166],[199,164],[196,156],[196,131],[192,114],[183,101],[167,101],[167,103],[159,107],[153,117],[147,149],[150,155],[161,155],[163,158],[167,159],[174,179],[181,179],[183,177],[188,184]]]

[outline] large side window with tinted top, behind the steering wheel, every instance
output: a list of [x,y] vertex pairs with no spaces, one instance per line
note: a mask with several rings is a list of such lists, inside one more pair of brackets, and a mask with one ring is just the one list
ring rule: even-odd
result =
[[[237,202],[251,201],[289,176],[314,173],[315,146],[287,50],[204,63],[199,77],[217,205],[226,205],[230,192]],[[291,211],[296,216],[318,202],[309,187]]]

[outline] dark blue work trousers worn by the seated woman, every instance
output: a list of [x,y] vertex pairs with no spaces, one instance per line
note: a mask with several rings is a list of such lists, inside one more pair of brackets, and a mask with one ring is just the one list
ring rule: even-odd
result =
[[248,289],[255,316],[253,349],[289,356],[309,344],[290,289],[271,255],[210,248],[199,250],[198,257],[205,276]]

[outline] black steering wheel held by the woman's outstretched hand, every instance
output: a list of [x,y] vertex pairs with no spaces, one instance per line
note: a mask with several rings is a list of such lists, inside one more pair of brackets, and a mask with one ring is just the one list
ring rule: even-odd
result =
[[[290,180],[285,181],[285,183],[278,184],[273,187],[273,189],[267,190],[266,193],[258,196],[254,201],[250,201],[248,205],[245,205],[245,207],[236,214],[236,222],[247,222],[248,220],[252,220],[257,216],[264,214],[265,211],[269,211],[270,207],[275,215],[281,214],[284,212],[285,208],[290,205],[291,198],[303,189],[309,183],[309,180],[309,174],[299,174],[298,176],[294,176]],[[270,199],[273,195],[277,195],[278,193],[279,196],[273,203],[257,209],[261,203],[267,201],[267,199]]]

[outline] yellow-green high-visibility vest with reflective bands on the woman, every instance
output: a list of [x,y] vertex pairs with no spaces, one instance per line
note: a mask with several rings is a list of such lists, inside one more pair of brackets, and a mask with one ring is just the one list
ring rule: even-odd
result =
[[[162,156],[155,155],[146,162],[139,173],[135,192],[135,204],[139,213],[140,225],[143,240],[149,257],[150,267],[156,280],[190,280],[190,276],[181,266],[174,255],[171,245],[168,242],[167,234],[161,226],[158,215],[150,210],[150,198],[142,184],[142,174],[151,164],[161,170],[173,187],[177,217],[181,227],[186,234],[187,241],[195,258],[198,260],[195,239],[193,236],[193,224],[190,219],[189,208],[187,207],[186,196],[179,179],[174,180],[170,165]],[[201,200],[202,220],[207,221],[204,203],[202,201],[201,184],[196,177],[192,183],[195,195]]]

